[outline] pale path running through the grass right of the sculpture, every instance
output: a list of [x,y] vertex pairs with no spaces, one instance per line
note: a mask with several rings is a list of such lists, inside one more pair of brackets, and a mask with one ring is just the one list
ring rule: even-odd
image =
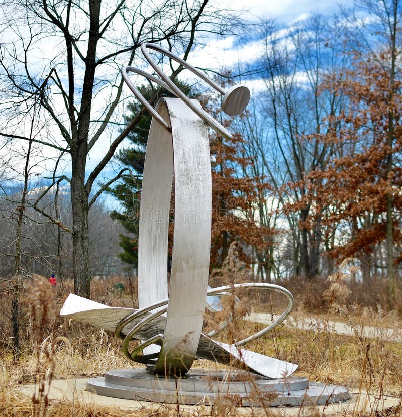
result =
[[[272,317],[270,314],[266,313],[251,313],[249,315],[249,320],[251,322],[268,325],[272,323],[272,319],[276,320],[278,317],[279,316]],[[332,320],[326,321],[313,317],[294,318],[292,316],[289,316],[285,320],[284,325],[304,330],[334,332],[339,335],[362,336],[364,334],[366,338],[370,339],[380,338],[395,342],[402,342],[402,329],[377,328],[374,326],[358,326],[353,328],[347,323],[334,322]]]

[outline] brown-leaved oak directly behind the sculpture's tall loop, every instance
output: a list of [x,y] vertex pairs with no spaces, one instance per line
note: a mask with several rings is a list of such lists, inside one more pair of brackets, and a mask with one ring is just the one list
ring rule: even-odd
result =
[[[220,119],[220,123],[230,126],[228,119]],[[258,220],[270,187],[264,178],[246,174],[253,161],[245,156],[244,145],[240,133],[234,133],[232,139],[215,132],[210,135],[211,154],[216,159],[212,163],[211,267],[222,266],[234,241],[240,244],[240,256],[246,262],[251,261],[253,250],[262,252],[272,242],[274,230]]]

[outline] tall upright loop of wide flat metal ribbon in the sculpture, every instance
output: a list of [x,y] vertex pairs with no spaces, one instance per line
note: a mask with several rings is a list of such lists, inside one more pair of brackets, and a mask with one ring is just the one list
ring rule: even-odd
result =
[[[200,108],[198,101],[194,106]],[[183,374],[203,325],[211,241],[211,162],[207,126],[179,98],[152,120],[142,183],[138,287],[140,308],[167,298],[167,239],[174,174],[174,239],[166,328],[154,372]],[[159,294],[155,292],[159,291]]]

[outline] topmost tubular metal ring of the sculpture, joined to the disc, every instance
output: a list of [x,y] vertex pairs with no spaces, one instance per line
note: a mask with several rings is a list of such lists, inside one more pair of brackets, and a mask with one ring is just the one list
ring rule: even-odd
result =
[[180,88],[176,87],[172,80],[160,69],[160,67],[155,63],[155,61],[152,59],[151,55],[148,53],[146,48],[153,49],[155,51],[158,51],[164,55],[169,56],[179,64],[183,65],[185,68],[189,69],[191,72],[202,78],[204,81],[208,82],[210,85],[212,85],[215,89],[217,89],[221,94],[225,94],[225,91],[214,81],[210,80],[208,77],[206,77],[202,72],[194,68],[192,65],[188,64],[183,59],[177,57],[176,55],[172,54],[170,51],[166,51],[165,49],[149,43],[145,42],[141,45],[141,52],[144,54],[146,60],[150,63],[152,68],[155,70],[155,72],[162,78],[162,80],[170,87],[170,90],[173,91],[173,93],[181,98],[186,105],[197,115],[199,116],[204,122],[206,122],[209,126],[211,126],[214,130],[219,132],[222,136],[224,136],[227,139],[232,139],[232,134],[225,129],[220,123],[218,123],[212,116],[210,116],[207,112],[205,112],[202,109],[198,109],[196,106],[193,105],[191,100],[180,90]]

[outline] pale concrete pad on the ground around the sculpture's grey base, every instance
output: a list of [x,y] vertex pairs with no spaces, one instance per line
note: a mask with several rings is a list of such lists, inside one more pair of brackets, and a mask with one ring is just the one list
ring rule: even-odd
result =
[[[105,397],[102,395],[96,395],[92,392],[85,390],[86,382],[90,378],[83,379],[67,379],[67,380],[53,380],[50,388],[46,387],[46,392],[48,389],[48,398],[50,400],[59,400],[59,401],[79,401],[88,405],[100,405],[105,407],[117,407],[120,409],[135,411],[135,410],[144,410],[147,409],[152,412],[155,409],[160,409],[161,404],[150,403],[145,401],[135,401],[119,398]],[[24,395],[31,397],[34,392],[38,393],[38,385],[29,384],[21,385],[14,389],[17,392],[20,392]],[[347,402],[341,402],[336,404],[328,404],[316,407],[305,406],[302,410],[300,407],[276,407],[270,408],[270,411],[274,415],[278,416],[299,416],[304,413],[311,414],[311,411],[319,412],[320,414],[325,412],[326,415],[335,415],[343,414],[347,415],[349,413],[358,413],[359,415],[369,413],[373,410],[384,410],[390,407],[395,407],[400,404],[399,398],[393,397],[383,397],[379,398],[377,395],[367,394],[361,392],[352,392],[352,398]],[[177,409],[177,404],[165,404],[164,407]],[[202,410],[203,414],[209,413],[211,407],[208,404],[205,405],[180,405],[180,410],[182,411],[197,411]],[[255,413],[256,407],[253,409],[251,407],[241,407],[238,408],[238,413],[241,415],[251,415]]]

